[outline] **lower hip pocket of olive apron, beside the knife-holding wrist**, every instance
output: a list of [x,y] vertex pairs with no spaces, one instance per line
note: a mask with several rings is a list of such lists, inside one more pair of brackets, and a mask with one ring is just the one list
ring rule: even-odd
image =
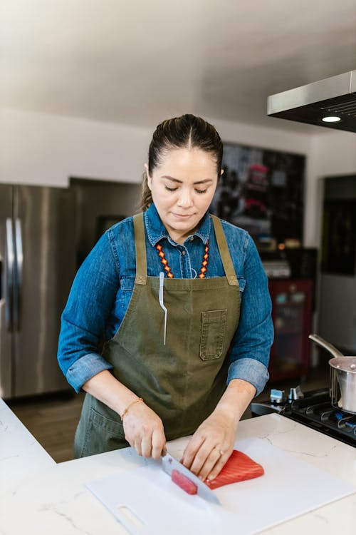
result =
[[109,419],[93,407],[90,407],[88,420],[83,446],[78,457],[111,452],[113,449],[130,446],[125,439],[124,427],[119,420]]

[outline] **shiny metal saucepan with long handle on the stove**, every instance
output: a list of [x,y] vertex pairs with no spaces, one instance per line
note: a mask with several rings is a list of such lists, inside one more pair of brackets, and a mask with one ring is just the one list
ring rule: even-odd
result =
[[337,409],[356,414],[356,357],[342,355],[318,335],[309,335],[309,338],[333,355],[333,359],[329,360],[331,404]]

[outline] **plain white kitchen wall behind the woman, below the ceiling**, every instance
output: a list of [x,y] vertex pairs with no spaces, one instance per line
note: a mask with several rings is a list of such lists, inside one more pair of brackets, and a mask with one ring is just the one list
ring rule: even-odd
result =
[[[273,128],[208,120],[224,141],[307,156],[304,244],[318,247],[318,179],[356,173],[355,133],[325,128],[320,128],[320,134],[293,133],[280,130],[279,119],[271,119]],[[154,128],[1,108],[0,182],[66,187],[70,176],[75,176],[137,183]]]

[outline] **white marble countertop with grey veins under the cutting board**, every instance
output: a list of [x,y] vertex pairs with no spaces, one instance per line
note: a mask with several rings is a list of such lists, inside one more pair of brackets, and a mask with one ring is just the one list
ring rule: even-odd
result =
[[[266,440],[355,486],[354,494],[263,534],[355,535],[355,448],[279,414],[243,420],[238,437]],[[172,441],[169,451],[179,457],[186,443],[187,438]],[[126,534],[85,483],[140,464],[145,460],[131,448],[56,464],[0,400],[0,535]]]

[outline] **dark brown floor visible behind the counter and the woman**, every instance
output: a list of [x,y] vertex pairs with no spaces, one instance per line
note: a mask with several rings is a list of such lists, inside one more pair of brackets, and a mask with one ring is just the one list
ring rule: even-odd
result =
[[[288,394],[291,387],[300,384],[304,392],[328,387],[328,361],[310,370],[307,377],[300,382],[298,378],[268,383],[265,390],[255,400],[265,401],[269,398],[271,388],[283,389]],[[56,462],[73,458],[73,437],[80,416],[84,394],[62,393],[31,399],[14,399],[7,401],[17,417],[42,444]],[[244,419],[251,417],[248,408]]]

